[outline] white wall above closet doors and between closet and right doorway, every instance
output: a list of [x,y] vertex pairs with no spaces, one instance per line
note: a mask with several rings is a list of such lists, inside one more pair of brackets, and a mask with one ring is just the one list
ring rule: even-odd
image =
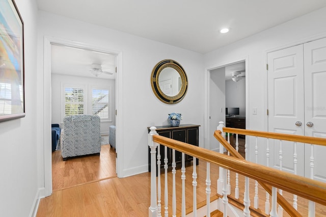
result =
[[[205,55],[206,68],[248,57],[249,129],[267,130],[266,52],[326,37],[325,20],[326,8],[322,8]],[[253,107],[257,115],[252,114]]]

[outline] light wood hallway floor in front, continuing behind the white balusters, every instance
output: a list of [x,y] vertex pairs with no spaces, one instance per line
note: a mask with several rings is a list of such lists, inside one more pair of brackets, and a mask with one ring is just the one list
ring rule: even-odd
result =
[[[186,208],[192,207],[193,186],[192,167],[186,168]],[[206,200],[206,162],[199,160],[197,166],[197,202]],[[169,173],[169,176],[172,174]],[[219,176],[219,169],[210,165],[211,196],[216,193],[216,180]],[[234,186],[234,173],[231,173],[231,184]],[[176,172],[176,192],[177,192],[177,213],[181,213],[181,170]],[[239,186],[244,186],[244,178],[240,176]],[[162,183],[162,206],[164,206],[164,176],[161,176]],[[169,179],[169,214],[172,207],[172,185]],[[241,187],[243,188],[243,187]],[[232,190],[234,192],[234,190]],[[233,193],[231,193],[233,194]],[[251,181],[250,188],[251,204],[254,197],[254,181]],[[292,201],[292,196],[283,193],[285,197]],[[240,199],[243,193],[240,192]],[[265,192],[259,186],[259,207],[264,209]],[[304,205],[300,208],[303,216],[307,215],[308,202],[300,199],[298,202]],[[126,178],[111,178],[96,182],[77,185],[53,192],[47,198],[41,199],[37,216],[148,216],[150,206],[150,173],[143,173]],[[326,216],[325,207],[316,205],[316,216]],[[162,207],[164,213],[164,207]],[[284,213],[284,216],[286,213]]]

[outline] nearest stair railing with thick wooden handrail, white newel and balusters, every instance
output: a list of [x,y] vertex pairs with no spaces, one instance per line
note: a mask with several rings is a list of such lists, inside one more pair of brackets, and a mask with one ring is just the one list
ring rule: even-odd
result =
[[[173,188],[173,201],[172,201],[172,216],[176,216],[176,196],[175,196],[175,150],[182,152],[182,155],[188,154],[193,157],[196,157],[198,159],[204,160],[207,162],[207,177],[206,177],[206,194],[210,194],[210,177],[209,177],[209,164],[215,164],[220,166],[221,168],[224,168],[222,170],[223,172],[221,173],[220,170],[220,177],[224,178],[223,182],[223,188],[222,188],[222,193],[223,193],[223,204],[224,208],[224,216],[228,215],[227,210],[229,210],[229,203],[228,203],[228,194],[229,194],[229,186],[228,186],[228,173],[227,171],[232,171],[235,173],[238,173],[240,175],[243,175],[246,177],[246,179],[254,179],[257,180],[259,183],[263,183],[270,187],[270,194],[271,196],[271,201],[272,201],[272,209],[270,212],[270,216],[277,216],[277,212],[275,210],[276,207],[276,201],[279,201],[279,198],[277,196],[277,188],[283,189],[284,191],[290,192],[292,194],[301,196],[303,198],[306,198],[308,200],[314,201],[316,203],[319,203],[323,206],[326,205],[326,184],[316,181],[316,180],[311,180],[305,177],[297,176],[294,174],[290,174],[284,171],[276,170],[273,168],[269,168],[266,166],[258,165],[254,162],[250,162],[244,159],[236,158],[233,156],[237,156],[237,152],[234,152],[233,150],[230,149],[230,153],[233,156],[228,156],[223,153],[217,153],[215,151],[207,150],[201,147],[196,147],[193,145],[189,145],[183,142],[175,141],[166,137],[162,137],[158,135],[155,131],[155,127],[150,127],[150,133],[148,134],[148,145],[151,149],[151,204],[149,207],[149,216],[161,216],[161,211],[159,210],[158,207],[161,206],[161,199],[160,196],[157,195],[157,187],[160,188],[160,178],[157,179],[156,181],[156,149],[157,146],[164,145],[165,149],[167,147],[173,149],[173,159],[172,159],[172,177],[173,177],[173,183],[172,183],[172,188]],[[226,130],[227,131],[227,130]],[[215,131],[214,136],[218,137],[218,140],[220,143],[225,143],[225,139],[223,137],[220,137],[221,132]],[[240,132],[241,134],[245,134],[243,131]],[[222,139],[221,139],[222,138]],[[227,143],[228,144],[228,143]],[[227,144],[224,144],[227,146]],[[159,148],[157,149],[159,152]],[[223,150],[223,149],[222,149]],[[167,156],[167,155],[165,155]],[[183,157],[184,158],[184,157]],[[195,158],[194,158],[195,159]],[[184,162],[184,159],[182,160]],[[157,162],[159,164],[160,162],[160,154],[157,154]],[[165,166],[167,165],[167,162],[165,162]],[[196,164],[193,164],[194,168],[196,168]],[[159,165],[158,165],[159,166]],[[160,167],[158,167],[160,168]],[[182,174],[184,174],[184,163],[182,164]],[[160,176],[160,170],[157,170],[158,177]],[[168,176],[167,169],[165,169],[165,177]],[[183,178],[181,178],[183,179]],[[182,180],[183,181],[183,180]],[[167,182],[167,181],[166,181]],[[218,182],[219,183],[219,182]],[[193,186],[194,186],[194,195],[196,195],[196,169],[193,169]],[[246,183],[247,191],[249,191],[249,182],[248,186]],[[165,183],[165,197],[170,193],[168,192],[168,185]],[[219,188],[219,186],[218,186]],[[267,188],[267,187],[266,187]],[[160,190],[159,190],[160,191]],[[185,186],[182,184],[182,213],[181,216],[185,216],[185,208],[184,207],[184,191],[185,191]],[[193,197],[194,200],[196,200],[196,197]],[[207,198],[209,198],[207,196]],[[250,215],[250,210],[248,207],[248,202],[246,201],[246,196],[244,197],[243,203],[244,203],[244,209],[243,209],[243,215],[244,216],[249,216]],[[165,198],[165,207],[168,207],[167,205],[168,201]],[[210,201],[207,199],[207,205],[209,205]],[[247,203],[247,204],[246,204]],[[250,202],[249,202],[250,203]],[[282,203],[282,202],[281,202]],[[197,204],[197,201],[194,201],[194,204]],[[247,206],[247,207],[246,207]],[[220,207],[221,208],[221,207]],[[207,213],[206,216],[210,216],[210,209],[207,208]],[[195,213],[195,214],[194,214]],[[197,216],[196,212],[193,212],[193,216]],[[169,215],[169,210],[165,208],[165,216]],[[299,215],[292,215],[292,216],[300,216]]]

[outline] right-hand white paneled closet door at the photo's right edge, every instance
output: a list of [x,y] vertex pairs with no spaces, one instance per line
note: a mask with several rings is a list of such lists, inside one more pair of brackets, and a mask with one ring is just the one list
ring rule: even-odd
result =
[[[304,44],[305,135],[326,138],[326,38]],[[307,126],[307,123],[313,126]],[[308,124],[309,125],[309,124]],[[314,146],[313,179],[326,182],[326,147]],[[311,147],[305,147],[305,176],[310,177]]]

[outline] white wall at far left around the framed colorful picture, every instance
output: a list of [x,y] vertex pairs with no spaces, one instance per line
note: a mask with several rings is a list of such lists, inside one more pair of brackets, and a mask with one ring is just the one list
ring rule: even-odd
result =
[[[30,216],[38,195],[39,132],[37,103],[37,6],[15,0],[24,21],[25,112],[21,119],[0,123],[0,216]],[[48,144],[50,145],[50,144]]]

